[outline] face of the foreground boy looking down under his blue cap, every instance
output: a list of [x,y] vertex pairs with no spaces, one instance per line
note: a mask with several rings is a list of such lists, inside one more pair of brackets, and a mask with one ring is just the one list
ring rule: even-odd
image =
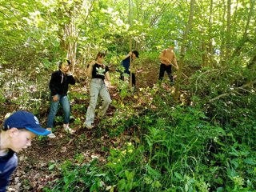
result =
[[22,149],[26,149],[28,146],[31,146],[32,139],[36,136],[36,134],[30,132],[29,130],[18,130],[13,128],[14,130],[10,134],[10,149],[14,150],[14,152],[18,153]]

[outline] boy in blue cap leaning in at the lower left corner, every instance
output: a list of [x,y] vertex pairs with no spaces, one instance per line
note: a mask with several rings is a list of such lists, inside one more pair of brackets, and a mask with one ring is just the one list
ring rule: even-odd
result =
[[46,136],[50,130],[42,128],[38,118],[26,111],[17,111],[6,118],[0,130],[0,192],[6,191],[10,175],[18,165],[15,153],[31,146],[36,135]]

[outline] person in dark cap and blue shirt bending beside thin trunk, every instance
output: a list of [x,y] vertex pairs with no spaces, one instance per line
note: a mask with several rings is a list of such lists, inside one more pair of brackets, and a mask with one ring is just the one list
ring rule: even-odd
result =
[[[133,62],[133,60],[135,58],[138,58],[138,50],[130,51],[130,53],[126,55],[126,57],[122,60],[122,66],[124,67],[124,70],[121,72],[121,76],[120,76],[120,79],[124,80],[124,74],[129,74],[129,77],[131,74],[132,86],[135,86],[136,78],[135,78],[134,73],[132,73],[132,72],[130,73],[130,62]],[[130,59],[131,59],[131,61],[130,61]]]

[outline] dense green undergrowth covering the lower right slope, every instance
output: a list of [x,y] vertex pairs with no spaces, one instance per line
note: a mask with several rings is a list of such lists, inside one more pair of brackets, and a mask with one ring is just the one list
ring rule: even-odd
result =
[[66,161],[61,178],[44,190],[254,191],[256,125],[254,110],[245,102],[250,95],[243,98],[246,110],[237,105],[237,112],[223,116],[226,109],[219,108],[213,117],[208,114],[214,104],[207,110],[177,106],[171,96],[162,96],[166,90],[154,89],[143,90],[147,105],[122,103],[113,117],[100,122],[111,137],[124,132],[132,136],[122,147],[110,149],[106,164]]

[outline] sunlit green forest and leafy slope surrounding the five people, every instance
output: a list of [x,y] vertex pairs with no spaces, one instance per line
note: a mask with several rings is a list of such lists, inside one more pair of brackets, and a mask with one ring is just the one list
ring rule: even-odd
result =
[[[46,127],[49,82],[67,58],[70,128],[18,153],[7,191],[256,191],[255,0],[0,0],[0,124],[26,110]],[[162,50],[178,70],[158,81]],[[131,50],[129,76],[120,80]],[[86,129],[90,77],[106,53],[112,102]],[[102,100],[99,97],[97,107]]]

